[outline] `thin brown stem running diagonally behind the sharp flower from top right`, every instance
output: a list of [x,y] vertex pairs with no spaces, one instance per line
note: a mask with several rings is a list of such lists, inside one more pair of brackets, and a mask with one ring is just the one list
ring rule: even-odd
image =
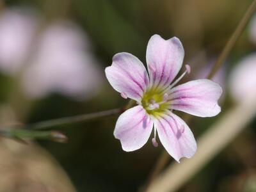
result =
[[[218,59],[214,63],[214,66],[212,67],[211,72],[209,72],[209,74],[207,76],[207,79],[211,79],[214,76],[214,74],[218,71],[218,69],[221,67],[221,65],[223,64],[223,61],[225,60],[225,58],[227,58],[228,54],[230,53],[230,51],[232,50],[232,48],[236,44],[239,36],[243,32],[246,24],[248,23],[248,21],[252,17],[253,12],[255,11],[255,8],[256,8],[256,0],[254,0],[252,2],[250,7],[248,8],[246,13],[244,14],[243,18],[239,22],[239,24],[238,24],[237,28],[235,29],[234,33],[232,34],[232,36],[230,36],[227,44],[225,45],[225,47],[221,51],[220,56],[218,57]],[[184,115],[184,118],[186,118],[187,124],[191,120],[191,116],[188,116],[186,114]],[[166,163],[168,163],[168,160],[169,160],[168,154],[166,154],[166,152],[164,151],[161,154],[161,156],[159,157],[159,159],[157,159],[157,163],[154,166],[152,172],[150,173],[150,175],[148,177],[148,182],[145,186],[144,191],[148,191],[148,186],[150,186],[150,184],[153,182],[153,180],[156,178],[156,176],[161,172],[161,170],[163,170]]]

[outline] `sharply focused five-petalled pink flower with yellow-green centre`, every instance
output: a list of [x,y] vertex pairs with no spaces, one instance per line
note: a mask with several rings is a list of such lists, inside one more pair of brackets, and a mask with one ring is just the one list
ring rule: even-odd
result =
[[122,97],[138,103],[120,115],[116,122],[114,136],[121,141],[123,150],[129,152],[141,148],[154,127],[154,146],[157,146],[157,132],[164,148],[176,161],[195,154],[193,133],[172,111],[215,116],[221,111],[217,101],[222,90],[208,79],[175,86],[190,72],[186,65],[184,74],[172,83],[182,67],[183,58],[184,49],[179,38],[164,40],[159,35],[153,35],[147,45],[148,73],[132,54],[121,52],[113,57],[112,65],[105,70],[109,83]]

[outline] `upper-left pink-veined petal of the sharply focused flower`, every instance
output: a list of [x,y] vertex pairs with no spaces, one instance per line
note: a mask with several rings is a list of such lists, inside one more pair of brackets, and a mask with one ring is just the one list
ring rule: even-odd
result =
[[107,67],[106,76],[113,88],[127,97],[140,101],[148,86],[148,74],[143,63],[127,52],[113,56],[113,63]]

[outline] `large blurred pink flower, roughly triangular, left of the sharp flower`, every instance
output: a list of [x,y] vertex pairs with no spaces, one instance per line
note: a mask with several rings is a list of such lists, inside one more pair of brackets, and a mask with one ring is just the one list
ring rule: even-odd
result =
[[59,92],[79,99],[99,90],[100,68],[78,26],[55,22],[45,29],[37,48],[22,82],[30,97]]

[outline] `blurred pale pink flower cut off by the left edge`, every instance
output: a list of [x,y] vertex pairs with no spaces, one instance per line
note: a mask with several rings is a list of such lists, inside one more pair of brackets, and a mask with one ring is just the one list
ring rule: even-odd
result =
[[15,74],[26,60],[37,21],[31,10],[12,8],[0,14],[0,70],[5,74]]

